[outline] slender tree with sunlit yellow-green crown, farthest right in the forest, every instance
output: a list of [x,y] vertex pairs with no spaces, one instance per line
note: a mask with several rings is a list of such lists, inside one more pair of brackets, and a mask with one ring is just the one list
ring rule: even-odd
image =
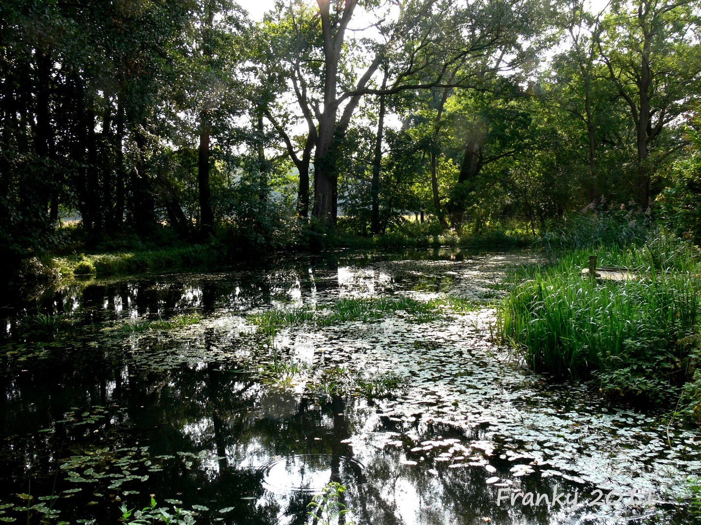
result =
[[651,149],[701,92],[699,22],[694,1],[634,0],[614,3],[602,23],[597,45],[606,79],[627,103],[636,131],[641,207],[650,200]]

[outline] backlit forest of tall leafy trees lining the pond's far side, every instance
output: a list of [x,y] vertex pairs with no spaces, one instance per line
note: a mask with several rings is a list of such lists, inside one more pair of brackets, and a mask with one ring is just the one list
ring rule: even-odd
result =
[[236,259],[602,211],[698,244],[697,3],[587,6],[294,0],[256,22],[229,0],[6,1],[3,258]]

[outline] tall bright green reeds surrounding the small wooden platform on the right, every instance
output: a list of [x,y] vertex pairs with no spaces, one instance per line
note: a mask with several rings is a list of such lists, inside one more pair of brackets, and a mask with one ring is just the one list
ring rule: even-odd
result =
[[526,279],[498,308],[498,335],[521,349],[533,370],[572,378],[604,372],[674,351],[697,327],[701,272],[693,248],[658,238],[596,252],[608,264],[629,267],[637,279],[586,279],[581,268],[592,249],[517,272],[516,279]]

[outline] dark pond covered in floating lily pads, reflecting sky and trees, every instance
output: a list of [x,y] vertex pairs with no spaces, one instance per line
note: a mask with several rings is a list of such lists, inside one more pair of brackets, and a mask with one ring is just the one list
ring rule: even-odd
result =
[[[15,300],[1,310],[0,520],[115,523],[153,497],[198,524],[303,524],[338,482],[341,523],[694,523],[678,498],[701,470],[697,430],[496,344],[506,272],[535,260],[341,251]],[[252,322],[373,297],[471,306]],[[336,388],[348,381],[365,390]]]

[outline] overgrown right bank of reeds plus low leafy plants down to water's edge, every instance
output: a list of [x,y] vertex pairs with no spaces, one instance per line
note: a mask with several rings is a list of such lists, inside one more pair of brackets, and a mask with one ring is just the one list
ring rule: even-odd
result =
[[[638,279],[584,278],[593,253],[599,265],[627,267]],[[693,412],[701,400],[693,393],[701,380],[700,274],[695,248],[664,235],[641,246],[570,251],[547,267],[522,269],[498,309],[498,333],[533,370],[593,379],[602,392],[627,398],[683,395]]]

